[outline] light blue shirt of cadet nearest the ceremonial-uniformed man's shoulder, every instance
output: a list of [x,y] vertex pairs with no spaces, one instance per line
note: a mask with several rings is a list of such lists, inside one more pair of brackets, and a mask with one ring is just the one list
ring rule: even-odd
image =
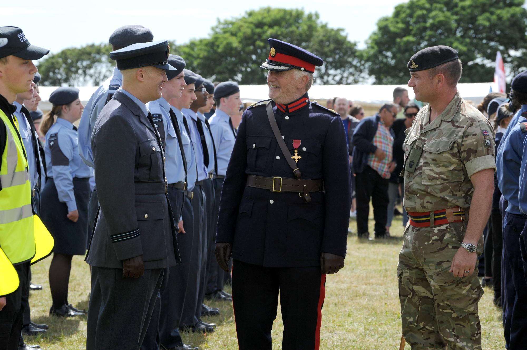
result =
[[229,125],[229,115],[216,109],[216,112],[210,117],[210,130],[216,145],[216,157],[218,158],[218,175],[225,176],[227,166],[229,165],[232,149],[234,148],[235,136]]

